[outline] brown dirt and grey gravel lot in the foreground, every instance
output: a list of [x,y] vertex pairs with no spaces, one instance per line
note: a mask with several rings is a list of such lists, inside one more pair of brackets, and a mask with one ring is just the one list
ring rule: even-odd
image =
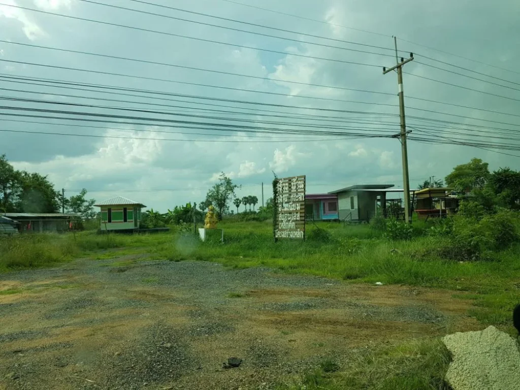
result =
[[[324,358],[477,328],[468,302],[205,262],[77,260],[0,275],[0,390],[268,389]],[[242,365],[223,368],[229,357]]]

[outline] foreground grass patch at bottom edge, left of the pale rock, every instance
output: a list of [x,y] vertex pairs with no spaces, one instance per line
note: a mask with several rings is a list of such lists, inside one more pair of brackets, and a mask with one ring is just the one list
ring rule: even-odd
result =
[[448,390],[444,378],[450,362],[438,340],[407,342],[358,352],[340,367],[325,359],[296,383],[277,390]]

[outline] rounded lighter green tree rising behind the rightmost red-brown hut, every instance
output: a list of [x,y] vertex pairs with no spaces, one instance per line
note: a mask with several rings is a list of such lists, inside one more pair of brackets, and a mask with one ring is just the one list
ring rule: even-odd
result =
[[446,184],[457,192],[473,192],[485,187],[489,175],[488,163],[471,159],[467,164],[454,167],[453,172],[446,176]]

